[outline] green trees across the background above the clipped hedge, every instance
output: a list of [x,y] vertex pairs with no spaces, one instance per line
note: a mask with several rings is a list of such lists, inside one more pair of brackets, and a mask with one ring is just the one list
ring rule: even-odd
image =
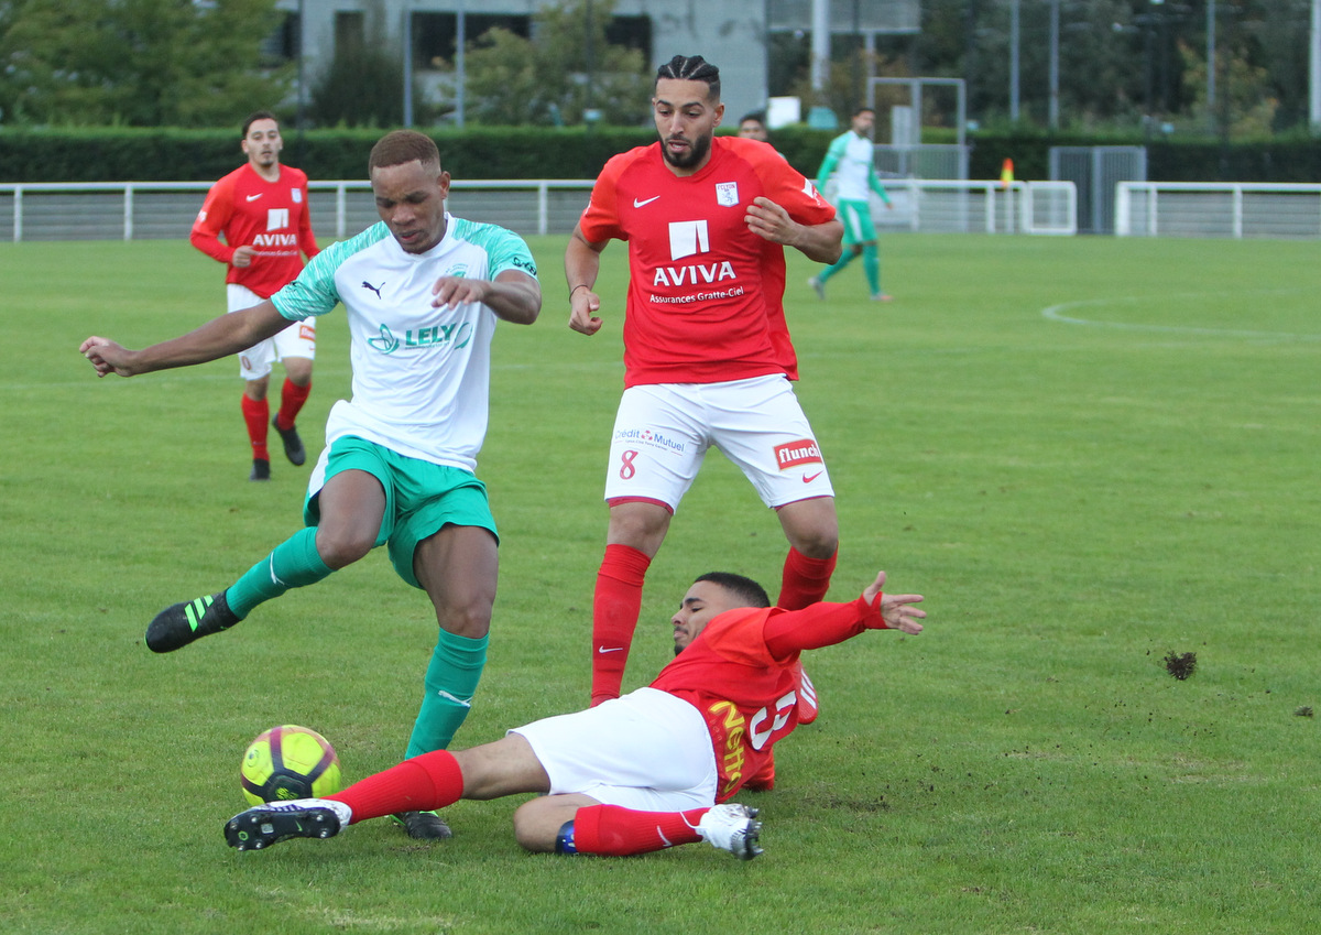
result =
[[[604,124],[646,123],[650,65],[642,52],[608,41],[613,7],[565,0],[540,8],[527,36],[495,28],[472,37],[465,120],[573,125],[594,111]],[[982,125],[1005,127],[1017,111],[1022,128],[1269,136],[1308,124],[1310,7],[923,0],[914,36],[868,46],[861,36],[836,34],[823,88],[810,82],[810,37],[770,36],[769,92],[847,115],[865,99],[871,75],[954,77],[966,82],[967,116]],[[297,40],[275,0],[0,0],[0,128],[214,127],[272,102],[308,127],[398,125],[402,57],[384,38],[379,5],[367,12],[366,41],[337,49],[329,67],[309,67],[316,78],[299,95]],[[427,66],[440,91],[415,83],[420,125],[445,121],[456,106],[454,62]],[[952,112],[934,115],[942,119]]]

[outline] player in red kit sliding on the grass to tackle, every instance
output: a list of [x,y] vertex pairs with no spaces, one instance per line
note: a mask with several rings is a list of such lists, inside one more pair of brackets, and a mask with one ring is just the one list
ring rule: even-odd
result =
[[798,725],[799,654],[868,630],[922,631],[922,596],[884,585],[881,572],[847,604],[785,610],[750,578],[703,574],[671,618],[675,658],[650,687],[493,744],[424,753],[325,799],[250,808],[225,837],[247,850],[402,810],[540,792],[514,812],[528,850],[626,856],[707,841],[750,860],[757,810],[729,799]]

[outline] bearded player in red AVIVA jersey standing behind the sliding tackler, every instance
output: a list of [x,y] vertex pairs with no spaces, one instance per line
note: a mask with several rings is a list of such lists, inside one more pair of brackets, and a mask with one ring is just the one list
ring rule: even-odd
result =
[[700,55],[660,67],[653,112],[659,141],[605,165],[564,255],[569,328],[590,335],[602,324],[601,251],[629,244],[593,704],[620,693],[647,567],[712,445],[777,511],[790,545],[778,606],[826,596],[839,544],[830,473],[790,383],[798,362],[783,308],[785,247],[838,259],[835,209],[770,147],[715,136],[720,73]]

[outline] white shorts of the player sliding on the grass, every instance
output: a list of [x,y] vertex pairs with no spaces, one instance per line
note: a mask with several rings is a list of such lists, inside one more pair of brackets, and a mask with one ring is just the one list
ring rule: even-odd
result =
[[668,692],[639,688],[509,733],[532,745],[551,778],[551,795],[580,792],[645,812],[716,803],[711,732],[701,712]]

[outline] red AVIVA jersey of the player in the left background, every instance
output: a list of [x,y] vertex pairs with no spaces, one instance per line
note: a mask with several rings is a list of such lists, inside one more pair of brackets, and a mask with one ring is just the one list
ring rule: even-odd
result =
[[230,263],[238,247],[256,247],[252,263],[230,265],[225,281],[239,283],[269,298],[303,272],[300,250],[308,259],[317,255],[308,211],[308,177],[300,169],[281,165],[280,178],[268,182],[244,162],[206,193],[189,239],[221,263]]

